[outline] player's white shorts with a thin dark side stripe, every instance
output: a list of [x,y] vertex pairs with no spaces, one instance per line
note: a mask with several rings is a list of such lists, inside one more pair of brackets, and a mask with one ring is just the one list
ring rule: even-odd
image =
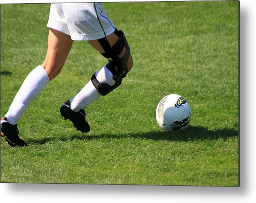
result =
[[115,31],[102,3],[51,4],[47,27],[71,36],[73,40],[94,40]]

